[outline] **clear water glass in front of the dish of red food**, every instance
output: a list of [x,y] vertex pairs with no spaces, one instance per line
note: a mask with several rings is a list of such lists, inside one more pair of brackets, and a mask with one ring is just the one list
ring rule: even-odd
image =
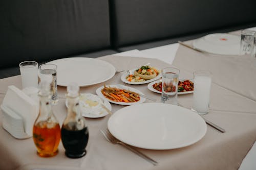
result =
[[162,69],[162,103],[178,105],[179,74],[180,70],[175,67]]

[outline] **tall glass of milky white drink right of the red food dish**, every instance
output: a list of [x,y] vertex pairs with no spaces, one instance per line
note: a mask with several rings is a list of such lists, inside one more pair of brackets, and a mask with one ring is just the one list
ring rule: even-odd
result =
[[194,75],[194,94],[193,107],[191,110],[198,114],[206,114],[209,112],[211,72],[207,70],[199,70]]

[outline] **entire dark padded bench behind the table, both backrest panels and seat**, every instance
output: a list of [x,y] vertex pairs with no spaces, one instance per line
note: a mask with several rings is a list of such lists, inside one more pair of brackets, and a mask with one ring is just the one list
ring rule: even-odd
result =
[[[245,4],[245,5],[243,5]],[[0,79],[18,63],[100,57],[256,26],[255,0],[2,0]]]

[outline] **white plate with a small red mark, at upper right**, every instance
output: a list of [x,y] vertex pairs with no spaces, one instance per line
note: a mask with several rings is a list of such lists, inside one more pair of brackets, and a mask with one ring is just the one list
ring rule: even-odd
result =
[[230,34],[209,34],[193,41],[199,50],[220,55],[239,55],[240,36]]

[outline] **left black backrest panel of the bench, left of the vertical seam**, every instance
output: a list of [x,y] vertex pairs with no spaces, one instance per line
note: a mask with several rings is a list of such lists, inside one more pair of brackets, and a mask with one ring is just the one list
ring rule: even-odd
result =
[[1,0],[0,68],[110,47],[106,0]]

